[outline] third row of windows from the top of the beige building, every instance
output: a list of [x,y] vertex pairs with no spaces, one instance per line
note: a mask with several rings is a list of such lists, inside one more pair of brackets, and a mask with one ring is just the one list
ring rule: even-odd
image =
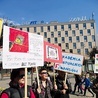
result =
[[[72,37],[68,37],[68,38],[69,38],[69,42],[73,42]],[[65,37],[61,37],[62,43],[66,42],[65,39],[66,39]],[[47,38],[47,40],[48,40],[48,42],[51,43],[51,38]],[[95,36],[94,35],[92,35],[92,39],[91,40],[93,42],[95,42]],[[54,42],[58,43],[58,38],[57,37],[54,38]],[[76,36],[76,42],[80,42],[80,37],[79,36]],[[87,36],[84,36],[84,42],[88,42]]]

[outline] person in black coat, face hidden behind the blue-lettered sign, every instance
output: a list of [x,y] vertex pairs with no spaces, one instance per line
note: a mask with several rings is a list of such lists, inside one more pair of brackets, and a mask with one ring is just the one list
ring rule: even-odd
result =
[[70,98],[69,93],[71,89],[69,88],[69,83],[65,80],[65,72],[58,71],[58,76],[56,77],[57,90],[55,91],[54,98]]

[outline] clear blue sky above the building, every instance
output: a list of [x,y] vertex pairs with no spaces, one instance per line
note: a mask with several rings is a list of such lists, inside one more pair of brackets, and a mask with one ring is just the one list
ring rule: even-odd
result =
[[98,0],[0,0],[0,17],[19,24],[35,20],[66,22],[82,16],[89,19],[92,12],[98,32]]

